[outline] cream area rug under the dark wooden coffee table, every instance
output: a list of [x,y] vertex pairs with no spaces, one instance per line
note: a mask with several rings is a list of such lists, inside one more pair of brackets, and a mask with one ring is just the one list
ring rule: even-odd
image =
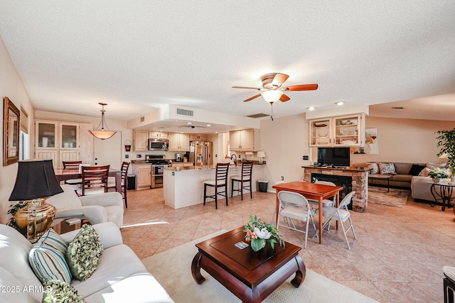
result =
[[[176,302],[240,302],[229,290],[204,270],[205,282],[198,285],[191,275],[191,261],[198,252],[195,244],[220,233],[171,248],[142,260],[147,270],[158,280]],[[305,261],[305,260],[304,260]],[[306,269],[306,277],[299,288],[289,282],[290,277],[263,302],[376,302],[359,292]]]

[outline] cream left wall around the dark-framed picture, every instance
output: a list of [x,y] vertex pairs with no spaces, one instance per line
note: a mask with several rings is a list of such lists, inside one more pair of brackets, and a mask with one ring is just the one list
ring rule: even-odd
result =
[[[19,77],[16,67],[14,67],[8,50],[0,38],[0,95],[3,102],[4,97],[9,97],[18,109],[21,106],[28,114],[28,121],[33,121],[33,105],[28,97],[26,89],[23,87],[21,77]],[[3,109],[3,106],[1,106]],[[1,114],[1,138],[3,138],[3,114]],[[30,125],[31,124],[31,125]],[[28,130],[33,132],[33,123],[29,123]],[[1,144],[1,155],[3,155],[3,143]],[[8,201],[11,192],[13,191],[14,182],[16,181],[17,163],[8,166],[3,166],[1,160],[0,166],[0,223],[6,224],[9,217],[6,216],[6,211],[9,209],[11,202]]]

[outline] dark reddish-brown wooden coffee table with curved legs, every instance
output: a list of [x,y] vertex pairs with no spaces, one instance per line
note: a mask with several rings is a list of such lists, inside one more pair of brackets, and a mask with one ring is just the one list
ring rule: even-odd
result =
[[198,253],[191,263],[194,280],[200,284],[205,278],[203,268],[242,302],[262,302],[291,275],[291,284],[299,287],[305,280],[306,268],[299,256],[299,246],[285,243],[285,247],[267,246],[254,252],[250,246],[237,248],[235,243],[245,241],[243,227],[196,244]]

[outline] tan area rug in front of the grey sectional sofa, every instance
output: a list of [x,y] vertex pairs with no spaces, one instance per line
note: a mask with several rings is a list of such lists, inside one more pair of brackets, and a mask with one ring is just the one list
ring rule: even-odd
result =
[[406,205],[410,192],[409,189],[391,188],[387,192],[387,187],[368,187],[368,203],[395,206],[402,209]]

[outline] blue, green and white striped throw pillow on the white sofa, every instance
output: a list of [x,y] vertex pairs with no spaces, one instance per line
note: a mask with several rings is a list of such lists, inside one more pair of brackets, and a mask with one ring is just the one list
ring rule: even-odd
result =
[[49,228],[28,253],[36,277],[42,282],[61,280],[70,283],[73,279],[65,260],[68,244],[53,228]]

